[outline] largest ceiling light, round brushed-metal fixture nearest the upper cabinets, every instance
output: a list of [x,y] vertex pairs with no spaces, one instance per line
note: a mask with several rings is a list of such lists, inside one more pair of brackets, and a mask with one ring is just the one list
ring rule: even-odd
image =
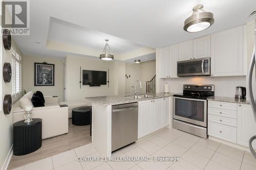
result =
[[203,5],[193,7],[193,14],[184,22],[184,30],[190,33],[198,32],[209,28],[214,23],[214,14],[205,12]]

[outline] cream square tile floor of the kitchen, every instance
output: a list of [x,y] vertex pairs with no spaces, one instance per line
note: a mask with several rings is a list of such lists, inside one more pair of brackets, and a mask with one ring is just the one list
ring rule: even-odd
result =
[[176,129],[161,131],[114,152],[113,156],[178,156],[180,161],[177,162],[78,162],[77,156],[100,156],[100,154],[90,143],[15,169],[256,169],[256,160],[249,152]]

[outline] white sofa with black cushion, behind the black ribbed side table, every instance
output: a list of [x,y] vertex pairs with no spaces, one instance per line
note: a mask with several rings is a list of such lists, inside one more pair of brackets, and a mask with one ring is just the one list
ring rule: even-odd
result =
[[[24,120],[25,108],[17,101],[12,107],[12,122]],[[69,132],[68,107],[60,107],[58,97],[45,96],[44,107],[33,107],[32,119],[42,119],[42,139]]]

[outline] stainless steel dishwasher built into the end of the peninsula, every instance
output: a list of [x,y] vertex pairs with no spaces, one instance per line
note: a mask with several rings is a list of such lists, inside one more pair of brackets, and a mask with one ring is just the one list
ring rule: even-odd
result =
[[112,106],[112,151],[138,139],[138,103]]

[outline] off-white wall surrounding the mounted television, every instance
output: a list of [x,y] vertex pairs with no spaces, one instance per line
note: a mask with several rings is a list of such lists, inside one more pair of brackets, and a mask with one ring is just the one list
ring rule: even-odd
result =
[[[101,85],[90,87],[89,85],[79,86],[81,70],[108,71],[110,69],[110,87]],[[117,95],[124,94],[125,64],[120,61],[103,61],[86,57],[67,56],[66,58],[66,92],[67,101],[81,101],[88,96]]]

